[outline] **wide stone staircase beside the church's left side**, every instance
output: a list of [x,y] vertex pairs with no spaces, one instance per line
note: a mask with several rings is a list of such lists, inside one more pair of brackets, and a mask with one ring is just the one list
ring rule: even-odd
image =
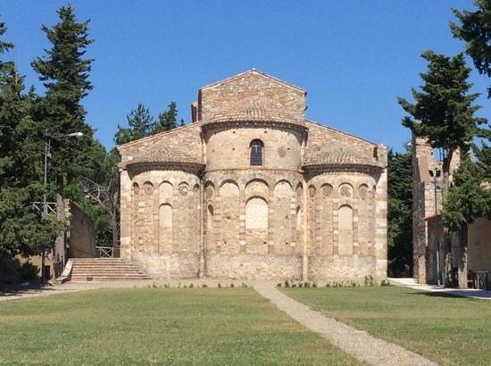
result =
[[71,281],[121,281],[151,279],[121,258],[72,258]]

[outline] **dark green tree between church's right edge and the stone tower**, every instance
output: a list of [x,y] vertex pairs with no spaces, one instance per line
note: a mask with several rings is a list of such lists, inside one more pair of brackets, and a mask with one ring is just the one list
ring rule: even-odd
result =
[[388,154],[388,270],[391,276],[412,276],[412,155]]

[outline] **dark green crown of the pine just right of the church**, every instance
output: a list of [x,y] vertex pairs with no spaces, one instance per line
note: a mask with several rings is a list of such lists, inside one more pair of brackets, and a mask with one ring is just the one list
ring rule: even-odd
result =
[[460,149],[466,154],[486,119],[474,115],[479,105],[473,102],[479,94],[470,93],[470,68],[465,65],[463,54],[448,57],[426,51],[421,57],[428,61],[428,71],[420,74],[424,82],[421,90],[412,89],[415,103],[402,97],[397,99],[409,113],[403,125],[414,135],[427,137],[432,147],[443,151],[443,171],[448,175],[454,151]]

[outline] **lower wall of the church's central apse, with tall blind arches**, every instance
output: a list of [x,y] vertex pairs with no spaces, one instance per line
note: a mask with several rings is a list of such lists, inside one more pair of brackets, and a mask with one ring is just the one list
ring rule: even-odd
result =
[[[205,273],[210,277],[301,277],[295,171],[212,171],[204,176]],[[258,259],[262,258],[261,261]],[[283,273],[283,275],[282,275]]]

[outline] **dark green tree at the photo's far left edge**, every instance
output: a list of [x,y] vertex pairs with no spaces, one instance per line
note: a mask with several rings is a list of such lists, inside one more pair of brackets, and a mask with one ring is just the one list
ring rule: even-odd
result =
[[[4,31],[0,23],[0,36]],[[0,54],[11,47],[0,40]],[[32,204],[43,194],[42,129],[30,116],[33,97],[23,90],[14,63],[0,60],[0,259],[38,253],[59,228]]]

